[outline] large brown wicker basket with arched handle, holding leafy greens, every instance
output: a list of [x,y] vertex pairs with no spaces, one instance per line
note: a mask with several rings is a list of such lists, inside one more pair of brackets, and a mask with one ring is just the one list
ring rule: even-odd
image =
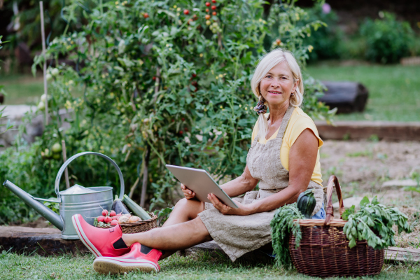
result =
[[297,272],[311,276],[363,276],[381,272],[384,249],[374,250],[366,241],[357,241],[349,248],[349,240],[343,232],[346,221],[332,219],[332,189],[336,188],[339,214],[344,212],[341,188],[336,176],[330,176],[327,188],[325,220],[300,220],[302,240],[295,248],[295,237],[290,235],[289,250]]

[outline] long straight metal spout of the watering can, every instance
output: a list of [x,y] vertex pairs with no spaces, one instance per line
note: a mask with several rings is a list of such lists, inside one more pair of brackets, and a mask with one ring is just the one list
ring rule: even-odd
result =
[[59,230],[63,230],[64,222],[61,216],[57,215],[54,211],[46,207],[41,202],[35,200],[33,196],[29,195],[29,193],[25,192],[25,190],[22,190],[14,183],[6,180],[3,183],[3,186],[6,186],[6,188],[11,190],[12,193],[17,195],[21,200],[32,207],[36,212],[38,212],[38,214],[50,221],[52,225],[55,225]]

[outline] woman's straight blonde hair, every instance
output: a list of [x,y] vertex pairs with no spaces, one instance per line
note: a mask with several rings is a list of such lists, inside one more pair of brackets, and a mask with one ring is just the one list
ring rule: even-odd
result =
[[[293,85],[296,83],[297,80],[299,80],[296,90],[295,92],[292,92],[292,95],[290,96],[289,100],[290,104],[293,107],[299,107],[302,104],[304,94],[302,73],[300,71],[300,66],[299,64],[297,64],[297,61],[293,56],[292,52],[288,50],[276,48],[275,50],[268,52],[267,55],[264,55],[260,59],[260,62],[258,62],[258,65],[255,67],[255,71],[251,80],[252,92],[258,98],[258,101],[263,100],[265,102],[260,92],[261,80],[265,77],[268,71],[270,71],[274,66],[283,61],[287,62],[290,71],[292,72]],[[265,102],[265,105],[267,106],[267,102]],[[260,139],[260,137],[262,136],[265,137],[265,134],[267,134],[268,130],[268,122],[267,118],[265,117],[265,114],[263,113],[260,113],[260,116],[258,117],[258,128],[259,130],[257,134],[257,139]]]

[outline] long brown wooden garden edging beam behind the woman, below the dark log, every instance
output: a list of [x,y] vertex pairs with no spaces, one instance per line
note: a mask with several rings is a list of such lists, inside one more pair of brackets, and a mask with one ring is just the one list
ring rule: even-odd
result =
[[369,139],[372,135],[386,141],[420,140],[420,123],[340,121],[332,126],[324,121],[316,121],[315,125],[321,139],[325,140],[360,140]]

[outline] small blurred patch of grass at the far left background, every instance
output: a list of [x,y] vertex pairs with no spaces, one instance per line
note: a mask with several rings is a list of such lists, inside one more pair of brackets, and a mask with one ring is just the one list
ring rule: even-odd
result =
[[7,93],[5,105],[37,105],[43,94],[42,75],[0,76],[0,85]]

